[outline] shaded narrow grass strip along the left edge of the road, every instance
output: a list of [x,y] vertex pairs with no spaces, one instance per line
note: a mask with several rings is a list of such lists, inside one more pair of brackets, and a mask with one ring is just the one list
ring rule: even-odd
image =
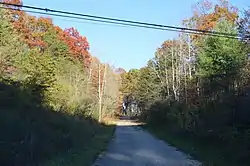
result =
[[[93,126],[88,126],[88,128],[91,129]],[[91,166],[98,155],[106,150],[114,134],[115,125],[105,122],[98,124],[98,129],[96,129],[96,126],[94,128],[94,136],[91,139],[83,140],[84,146],[59,155],[45,162],[42,166]]]

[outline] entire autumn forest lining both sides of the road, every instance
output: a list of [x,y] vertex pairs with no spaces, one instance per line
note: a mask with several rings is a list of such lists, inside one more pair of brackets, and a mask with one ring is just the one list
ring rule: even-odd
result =
[[182,26],[238,39],[179,33],[126,72],[77,29],[0,7],[0,165],[90,165],[124,96],[145,129],[207,165],[250,165],[250,10],[200,1]]

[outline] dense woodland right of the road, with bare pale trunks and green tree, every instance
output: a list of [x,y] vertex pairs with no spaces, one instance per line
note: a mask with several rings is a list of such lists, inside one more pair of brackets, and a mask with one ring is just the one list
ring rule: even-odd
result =
[[139,101],[141,118],[153,129],[224,149],[231,156],[217,157],[249,165],[250,11],[223,0],[202,1],[193,10],[183,26],[242,38],[180,33],[145,67],[123,74],[121,91]]

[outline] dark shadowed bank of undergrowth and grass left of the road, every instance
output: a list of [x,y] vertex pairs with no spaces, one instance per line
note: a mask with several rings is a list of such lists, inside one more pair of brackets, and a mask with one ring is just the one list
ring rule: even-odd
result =
[[0,82],[0,165],[90,166],[115,125],[55,111],[43,103],[43,92],[30,86]]

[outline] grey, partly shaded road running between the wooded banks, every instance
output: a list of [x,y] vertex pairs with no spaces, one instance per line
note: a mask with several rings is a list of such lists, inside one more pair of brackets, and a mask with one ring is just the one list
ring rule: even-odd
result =
[[107,151],[93,166],[201,166],[176,148],[127,121],[117,123]]

